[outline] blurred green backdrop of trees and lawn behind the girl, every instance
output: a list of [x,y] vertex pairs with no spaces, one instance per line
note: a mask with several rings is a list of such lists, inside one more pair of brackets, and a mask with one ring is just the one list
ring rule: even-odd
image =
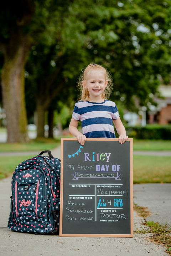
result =
[[[134,150],[171,150],[170,14],[169,0],[4,2],[0,152],[52,149],[71,136],[78,77],[91,62],[112,74],[110,99]],[[1,178],[18,164],[10,159],[0,157]],[[134,156],[134,182],[171,182],[171,158],[161,159]]]

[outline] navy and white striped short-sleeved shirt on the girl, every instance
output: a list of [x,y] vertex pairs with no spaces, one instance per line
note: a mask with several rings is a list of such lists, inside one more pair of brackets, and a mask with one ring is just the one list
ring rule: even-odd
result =
[[75,104],[72,117],[81,120],[86,138],[116,138],[113,120],[119,118],[118,108],[112,101],[79,101]]

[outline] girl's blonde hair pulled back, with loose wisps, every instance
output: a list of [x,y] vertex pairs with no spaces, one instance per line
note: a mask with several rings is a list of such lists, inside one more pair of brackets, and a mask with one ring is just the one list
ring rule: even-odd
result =
[[91,72],[104,73],[105,81],[108,80],[108,84],[105,87],[104,92],[102,93],[102,99],[108,99],[113,89],[112,77],[106,68],[102,67],[101,65],[91,63],[82,71],[82,74],[79,77],[79,81],[77,84],[77,87],[80,91],[78,101],[87,101],[89,99],[89,91],[88,89],[83,87],[82,81],[87,81]]

